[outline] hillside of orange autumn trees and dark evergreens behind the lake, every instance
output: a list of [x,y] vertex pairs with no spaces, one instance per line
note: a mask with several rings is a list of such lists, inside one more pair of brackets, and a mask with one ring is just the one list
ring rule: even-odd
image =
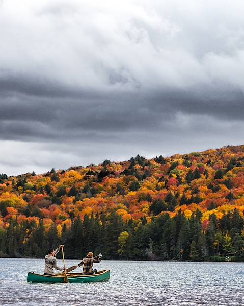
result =
[[244,146],[0,175],[0,256],[244,260]]

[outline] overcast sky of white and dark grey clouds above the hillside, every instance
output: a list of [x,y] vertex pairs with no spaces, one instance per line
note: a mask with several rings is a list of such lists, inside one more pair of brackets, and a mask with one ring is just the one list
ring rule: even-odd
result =
[[0,173],[243,144],[242,0],[0,0]]

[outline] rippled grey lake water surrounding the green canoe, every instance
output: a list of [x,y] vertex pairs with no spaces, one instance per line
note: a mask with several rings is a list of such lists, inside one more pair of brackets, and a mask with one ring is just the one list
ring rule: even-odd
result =
[[[66,266],[78,262],[66,260]],[[26,282],[28,271],[43,267],[44,260],[0,258],[0,304],[244,305],[243,263],[102,261],[94,268],[111,269],[107,283]]]

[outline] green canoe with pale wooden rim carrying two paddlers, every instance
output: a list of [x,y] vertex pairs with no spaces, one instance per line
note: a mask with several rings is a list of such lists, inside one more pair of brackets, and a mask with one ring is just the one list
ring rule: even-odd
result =
[[[53,276],[28,272],[27,281],[31,283],[64,283],[64,273]],[[67,273],[69,283],[88,283],[90,281],[108,281],[110,270],[98,271],[93,275],[82,275],[82,273]]]

